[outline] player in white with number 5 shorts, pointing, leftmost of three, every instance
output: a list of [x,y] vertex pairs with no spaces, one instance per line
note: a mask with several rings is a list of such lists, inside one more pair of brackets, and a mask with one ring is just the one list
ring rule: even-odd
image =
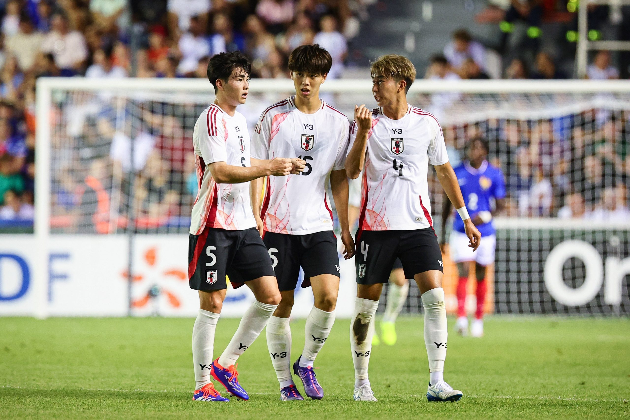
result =
[[[245,103],[251,65],[239,52],[214,55],[208,79],[215,101],[195,123],[193,145],[199,192],[192,210],[188,242],[188,278],[198,290],[199,313],[193,326],[193,400],[227,401],[210,380],[231,395],[249,399],[238,382],[236,360],[254,342],[280,302],[280,292],[251,209],[249,181],[261,176],[299,173],[304,165],[292,159],[249,159],[249,133],[236,107]],[[295,167],[294,167],[295,166]],[[226,297],[226,275],[246,283],[256,300],[222,355],[213,361],[214,331]]]

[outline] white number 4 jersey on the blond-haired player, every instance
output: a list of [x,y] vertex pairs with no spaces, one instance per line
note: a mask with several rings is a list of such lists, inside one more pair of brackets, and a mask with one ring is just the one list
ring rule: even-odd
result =
[[[357,123],[350,126],[350,148]],[[372,111],[365,169],[361,185],[360,230],[413,230],[433,226],[429,200],[428,164],[449,161],[437,119],[409,105],[399,120],[382,108]]]

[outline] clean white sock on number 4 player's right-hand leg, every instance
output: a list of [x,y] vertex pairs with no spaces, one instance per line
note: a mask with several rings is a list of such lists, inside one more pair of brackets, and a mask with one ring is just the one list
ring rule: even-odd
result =
[[425,308],[425,346],[429,360],[430,383],[444,380],[444,360],[446,360],[446,306],[444,289],[437,287],[422,293],[422,306]]

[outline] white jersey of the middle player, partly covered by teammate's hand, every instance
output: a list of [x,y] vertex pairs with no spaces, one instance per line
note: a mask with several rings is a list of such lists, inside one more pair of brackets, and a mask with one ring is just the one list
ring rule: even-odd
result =
[[326,180],[331,171],[345,167],[348,132],[348,117],[323,100],[313,114],[299,111],[293,96],[263,111],[253,135],[251,156],[306,161],[302,174],[267,178],[261,206],[266,231],[306,235],[333,230]]

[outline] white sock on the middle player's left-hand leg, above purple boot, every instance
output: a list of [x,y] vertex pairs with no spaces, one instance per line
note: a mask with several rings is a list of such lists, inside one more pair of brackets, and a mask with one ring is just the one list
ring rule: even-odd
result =
[[289,318],[271,317],[267,323],[267,348],[280,388],[295,385],[291,377],[291,327]]

